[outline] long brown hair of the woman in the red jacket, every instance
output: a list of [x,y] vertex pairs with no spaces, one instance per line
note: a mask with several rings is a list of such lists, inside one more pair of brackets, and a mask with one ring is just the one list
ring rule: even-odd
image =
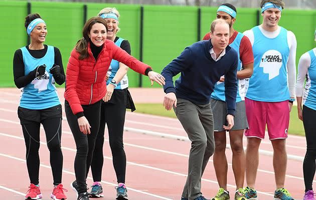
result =
[[84,24],[83,28],[82,28],[82,38],[77,42],[75,49],[76,51],[80,54],[79,55],[79,59],[84,59],[87,58],[89,56],[88,53],[88,42],[90,41],[89,38],[89,33],[90,30],[92,28],[92,26],[95,23],[102,23],[107,31],[107,26],[106,26],[106,20],[103,19],[102,17],[99,16],[95,16],[95,17],[91,17],[89,20],[87,20],[87,22]]

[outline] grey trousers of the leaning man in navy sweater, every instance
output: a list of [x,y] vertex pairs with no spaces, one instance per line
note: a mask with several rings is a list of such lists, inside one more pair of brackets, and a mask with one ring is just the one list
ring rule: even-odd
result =
[[213,113],[210,103],[198,105],[183,98],[177,98],[174,110],[191,140],[189,171],[182,196],[193,200],[202,195],[201,178],[214,153]]

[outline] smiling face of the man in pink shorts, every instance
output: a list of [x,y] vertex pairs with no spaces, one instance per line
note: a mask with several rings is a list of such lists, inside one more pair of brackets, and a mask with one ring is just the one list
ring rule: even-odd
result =
[[263,28],[269,31],[277,29],[277,24],[281,18],[281,10],[278,8],[268,8],[261,13],[263,17]]

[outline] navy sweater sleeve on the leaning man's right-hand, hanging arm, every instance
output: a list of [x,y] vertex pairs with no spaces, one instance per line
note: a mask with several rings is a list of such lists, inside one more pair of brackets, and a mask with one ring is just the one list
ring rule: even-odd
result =
[[229,70],[225,73],[225,101],[227,104],[227,114],[235,115],[236,95],[237,95],[237,66],[238,55],[237,52],[233,53],[233,63]]

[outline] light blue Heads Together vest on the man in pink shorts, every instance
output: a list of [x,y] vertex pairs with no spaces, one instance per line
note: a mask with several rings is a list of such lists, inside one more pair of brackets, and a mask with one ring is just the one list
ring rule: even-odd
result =
[[290,96],[286,69],[289,55],[287,30],[281,27],[275,38],[264,36],[259,26],[253,27],[252,31],[254,66],[246,97],[265,102],[288,100]]

